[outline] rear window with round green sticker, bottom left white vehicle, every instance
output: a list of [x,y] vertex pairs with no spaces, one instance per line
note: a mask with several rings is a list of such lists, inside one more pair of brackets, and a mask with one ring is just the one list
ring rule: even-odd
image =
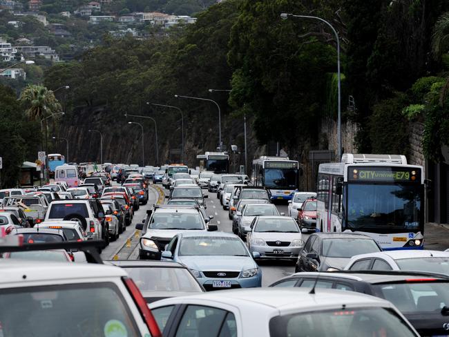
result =
[[113,282],[3,289],[0,302],[3,336],[141,336]]

